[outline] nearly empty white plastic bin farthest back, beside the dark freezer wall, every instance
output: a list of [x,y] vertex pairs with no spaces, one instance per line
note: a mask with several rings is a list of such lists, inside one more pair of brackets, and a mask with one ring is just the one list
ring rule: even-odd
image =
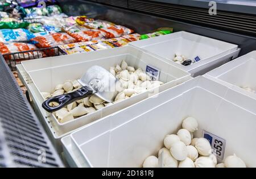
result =
[[[240,52],[238,45],[185,31],[134,41],[129,43],[129,45],[142,48],[146,52],[162,57],[167,63],[191,73],[192,77],[203,75],[227,63],[237,57]],[[201,60],[197,63],[184,66],[172,61],[175,53],[184,55],[192,61],[195,57],[199,56]]]

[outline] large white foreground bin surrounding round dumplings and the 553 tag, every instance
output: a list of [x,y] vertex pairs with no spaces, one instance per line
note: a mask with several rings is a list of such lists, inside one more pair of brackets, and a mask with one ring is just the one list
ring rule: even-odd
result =
[[[241,101],[242,99],[242,101]],[[205,77],[196,77],[90,123],[61,139],[69,163],[82,167],[141,167],[157,155],[167,134],[193,116],[203,131],[226,141],[223,153],[236,153],[256,166],[256,101]],[[250,136],[250,137],[248,137]],[[220,162],[222,159],[218,159]]]

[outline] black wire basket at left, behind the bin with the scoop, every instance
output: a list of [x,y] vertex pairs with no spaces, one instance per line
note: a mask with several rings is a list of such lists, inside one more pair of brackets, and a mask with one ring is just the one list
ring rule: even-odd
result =
[[15,71],[16,64],[20,64],[20,61],[59,56],[61,53],[59,47],[48,47],[23,52],[5,53],[2,55],[11,71]]

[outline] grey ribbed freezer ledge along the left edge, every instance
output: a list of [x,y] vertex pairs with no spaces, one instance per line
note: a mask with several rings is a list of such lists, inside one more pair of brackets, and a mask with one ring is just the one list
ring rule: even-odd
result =
[[0,166],[63,166],[2,55],[0,89]]

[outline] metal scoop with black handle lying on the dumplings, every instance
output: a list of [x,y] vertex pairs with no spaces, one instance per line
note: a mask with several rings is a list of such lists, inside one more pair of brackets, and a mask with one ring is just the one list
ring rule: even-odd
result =
[[[47,99],[42,104],[43,109],[52,113],[74,101],[92,94],[97,95],[106,102],[113,102],[115,95],[118,93],[115,87],[119,81],[113,74],[101,66],[92,66],[78,81],[82,85],[82,88],[72,93],[57,95],[56,97]],[[51,102],[57,102],[59,106],[51,107],[49,106]]]

